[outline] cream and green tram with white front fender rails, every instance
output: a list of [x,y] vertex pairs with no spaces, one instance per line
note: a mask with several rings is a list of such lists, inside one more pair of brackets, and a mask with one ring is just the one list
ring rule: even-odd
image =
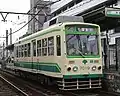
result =
[[41,80],[54,78],[61,90],[101,88],[101,39],[96,24],[54,24],[14,46],[16,72],[39,74]]

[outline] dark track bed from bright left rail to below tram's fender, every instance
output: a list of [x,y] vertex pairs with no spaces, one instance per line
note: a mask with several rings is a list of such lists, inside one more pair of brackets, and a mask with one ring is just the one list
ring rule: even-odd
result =
[[6,78],[9,78],[11,82],[14,82],[16,80],[16,85],[24,90],[25,93],[28,94],[28,96],[120,96],[118,93],[112,93],[107,92],[103,90],[84,90],[84,91],[61,91],[58,90],[55,86],[45,86],[41,85],[38,82],[28,80],[26,78],[20,78],[17,76],[11,75],[10,73],[6,73]]

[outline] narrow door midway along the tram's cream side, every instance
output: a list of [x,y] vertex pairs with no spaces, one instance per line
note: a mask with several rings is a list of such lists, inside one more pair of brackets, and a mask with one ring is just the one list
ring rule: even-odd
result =
[[32,61],[32,69],[34,69],[34,57],[36,57],[36,40],[32,40],[32,54],[31,54],[31,61]]

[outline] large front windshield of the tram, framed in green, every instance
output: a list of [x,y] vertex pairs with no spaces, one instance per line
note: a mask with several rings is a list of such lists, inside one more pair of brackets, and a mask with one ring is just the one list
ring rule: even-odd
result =
[[68,56],[96,56],[98,52],[97,35],[67,34],[66,45]]

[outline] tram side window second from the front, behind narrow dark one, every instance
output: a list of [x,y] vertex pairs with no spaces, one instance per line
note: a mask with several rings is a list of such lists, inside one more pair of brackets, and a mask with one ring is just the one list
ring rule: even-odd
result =
[[54,55],[54,37],[48,38],[48,55]]

